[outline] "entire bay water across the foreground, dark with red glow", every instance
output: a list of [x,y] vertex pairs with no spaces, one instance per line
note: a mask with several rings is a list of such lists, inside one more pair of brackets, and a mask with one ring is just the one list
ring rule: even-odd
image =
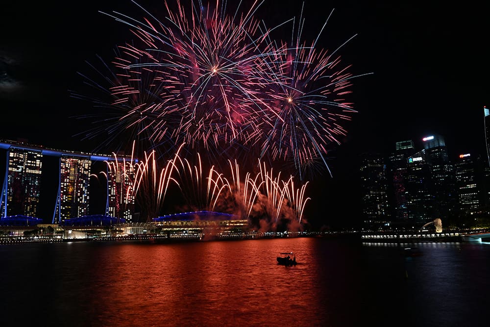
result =
[[[318,238],[12,245],[0,313],[56,326],[465,326],[485,309],[490,247],[415,246],[422,256]],[[278,265],[288,251],[298,264]]]

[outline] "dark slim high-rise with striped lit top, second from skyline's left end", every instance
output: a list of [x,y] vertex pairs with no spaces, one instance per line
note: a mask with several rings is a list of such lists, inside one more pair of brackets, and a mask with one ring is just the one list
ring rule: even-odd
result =
[[390,175],[393,184],[393,217],[398,221],[408,219],[405,177],[407,175],[408,157],[415,153],[412,140],[395,144],[395,152],[390,156]]

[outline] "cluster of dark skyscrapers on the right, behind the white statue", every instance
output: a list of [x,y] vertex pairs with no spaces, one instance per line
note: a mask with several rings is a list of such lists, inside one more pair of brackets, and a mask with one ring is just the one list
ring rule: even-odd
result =
[[362,155],[366,227],[423,225],[435,219],[448,226],[464,226],[488,219],[488,157],[462,153],[450,158],[442,135],[422,140],[422,149],[407,140],[397,142],[396,151],[388,157]]

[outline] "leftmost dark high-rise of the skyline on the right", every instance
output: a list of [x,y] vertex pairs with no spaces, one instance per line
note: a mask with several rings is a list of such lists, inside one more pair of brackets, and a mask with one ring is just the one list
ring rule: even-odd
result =
[[386,165],[379,154],[363,154],[361,187],[365,224],[379,226],[390,221]]

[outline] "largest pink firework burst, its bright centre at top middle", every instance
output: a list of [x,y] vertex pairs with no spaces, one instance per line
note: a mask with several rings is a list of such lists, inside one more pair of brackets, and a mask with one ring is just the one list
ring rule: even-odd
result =
[[[259,23],[251,12],[234,20],[219,4],[207,10],[192,2],[192,8],[186,10],[177,1],[175,13],[165,4],[166,22],[154,16],[152,22],[138,22],[117,13],[110,15],[130,25],[144,44],[143,48],[120,47],[124,57],[115,59],[116,67],[123,71],[119,76],[157,86],[156,96],[165,103],[151,108],[157,119],[147,122],[151,124],[147,128],[153,130],[150,138],[161,142],[170,135],[175,144],[196,147],[198,141],[209,149],[260,135],[256,118],[257,110],[263,110],[258,103],[262,99],[255,89],[260,89],[257,81],[264,53],[275,50],[264,44],[267,33],[258,33]],[[121,91],[123,96],[133,94],[131,88]],[[181,117],[170,130],[165,126],[169,109]]]

